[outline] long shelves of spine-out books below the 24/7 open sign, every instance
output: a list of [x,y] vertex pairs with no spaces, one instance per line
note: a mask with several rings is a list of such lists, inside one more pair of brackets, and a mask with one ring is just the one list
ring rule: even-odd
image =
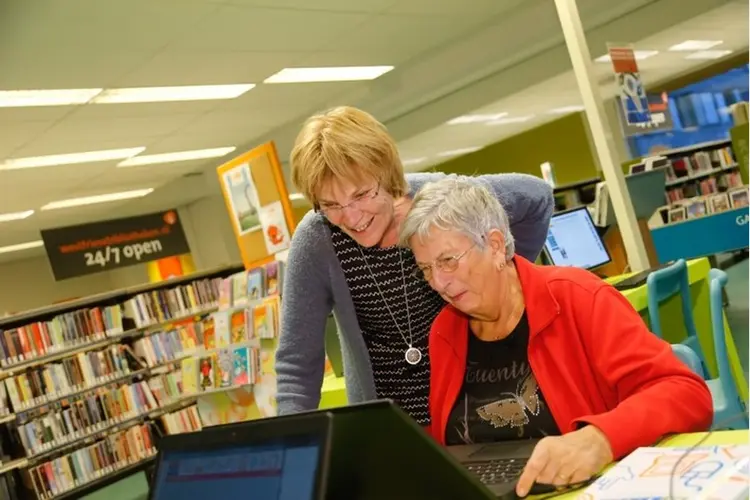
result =
[[178,368],[242,269],[1,318],[0,498],[80,498],[150,467],[160,436],[196,420]]

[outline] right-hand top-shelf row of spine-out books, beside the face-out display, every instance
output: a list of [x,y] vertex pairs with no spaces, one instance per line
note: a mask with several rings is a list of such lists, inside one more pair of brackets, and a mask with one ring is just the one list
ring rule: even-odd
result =
[[204,312],[217,306],[221,282],[221,278],[206,278],[138,294],[123,304],[125,316],[138,328],[146,328]]

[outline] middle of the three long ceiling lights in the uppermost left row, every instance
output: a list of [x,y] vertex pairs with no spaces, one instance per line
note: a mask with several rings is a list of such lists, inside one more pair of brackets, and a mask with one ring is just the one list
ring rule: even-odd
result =
[[142,87],[107,89],[91,99],[93,104],[123,104],[135,102],[208,101],[234,99],[248,92],[255,84],[182,85],[179,87]]

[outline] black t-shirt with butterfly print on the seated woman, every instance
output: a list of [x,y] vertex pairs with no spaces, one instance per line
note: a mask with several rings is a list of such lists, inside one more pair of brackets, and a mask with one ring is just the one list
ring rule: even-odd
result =
[[469,332],[463,387],[448,418],[446,444],[475,444],[559,435],[529,366],[529,321],[502,340]]

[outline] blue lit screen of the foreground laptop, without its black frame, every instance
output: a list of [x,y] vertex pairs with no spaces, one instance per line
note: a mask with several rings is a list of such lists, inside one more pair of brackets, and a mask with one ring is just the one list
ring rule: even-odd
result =
[[204,451],[164,451],[154,500],[252,498],[314,500],[320,444],[249,445]]

